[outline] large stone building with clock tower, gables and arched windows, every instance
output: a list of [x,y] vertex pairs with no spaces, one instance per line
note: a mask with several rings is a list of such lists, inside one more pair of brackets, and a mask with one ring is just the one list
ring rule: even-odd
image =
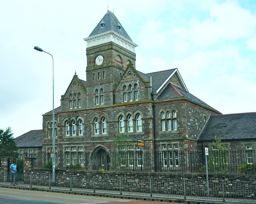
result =
[[[137,140],[144,140],[143,151],[161,152],[165,165],[178,159],[178,151],[212,145],[219,120],[232,124],[227,119],[231,116],[221,115],[188,92],[178,69],[140,72],[135,66],[137,45],[112,12],[107,11],[84,40],[86,81],[74,75],[55,109],[54,125],[52,111],[43,115],[42,152],[52,150],[54,127],[55,152],[87,152],[104,166],[110,160],[107,154],[116,150],[114,138],[124,133],[128,135],[124,151],[140,151]],[[255,121],[256,114],[250,116]],[[255,140],[255,128],[249,128],[250,139]],[[236,138],[235,131],[232,134]],[[240,148],[247,148],[245,143]]]

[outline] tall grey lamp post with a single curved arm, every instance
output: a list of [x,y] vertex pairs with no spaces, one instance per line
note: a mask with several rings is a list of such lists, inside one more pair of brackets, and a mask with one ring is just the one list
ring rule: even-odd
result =
[[[42,50],[40,47],[37,47],[37,46],[35,46],[34,49],[37,50],[37,51],[40,51],[40,52],[45,52],[44,50]],[[51,55],[48,52],[45,52],[45,53]],[[53,55],[51,55],[51,57],[53,58]],[[54,118],[54,114],[55,114],[55,112],[54,112],[54,69],[53,69],[53,125],[52,125],[52,127],[53,127],[53,135],[52,135],[52,137],[53,137],[53,150],[51,152],[51,153],[53,153],[53,156],[52,156],[52,158],[53,158],[52,186],[55,186],[55,118]]]

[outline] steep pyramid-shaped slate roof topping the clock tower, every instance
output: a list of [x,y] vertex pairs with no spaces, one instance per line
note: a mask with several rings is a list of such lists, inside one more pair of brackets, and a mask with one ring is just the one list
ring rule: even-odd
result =
[[[101,23],[105,23],[104,26],[101,26]],[[121,29],[119,30],[117,26],[121,26]],[[115,33],[123,36],[124,38],[132,41],[130,36],[126,33],[121,23],[118,21],[117,17],[110,12],[109,10],[105,14],[105,16],[100,20],[98,25],[95,27],[95,29],[91,32],[90,36],[99,35],[101,33],[105,33],[107,31],[114,31]]]

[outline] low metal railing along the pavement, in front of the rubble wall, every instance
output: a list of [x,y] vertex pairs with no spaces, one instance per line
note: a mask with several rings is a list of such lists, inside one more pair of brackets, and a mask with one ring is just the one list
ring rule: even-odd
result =
[[[256,182],[209,180],[207,196],[206,180],[171,178],[124,178],[91,175],[56,174],[53,185],[52,175],[47,173],[17,173],[14,185],[76,190],[80,192],[107,193],[118,195],[143,195],[144,197],[176,199],[213,199],[216,201],[255,202]],[[11,173],[0,173],[0,183],[11,184]]]

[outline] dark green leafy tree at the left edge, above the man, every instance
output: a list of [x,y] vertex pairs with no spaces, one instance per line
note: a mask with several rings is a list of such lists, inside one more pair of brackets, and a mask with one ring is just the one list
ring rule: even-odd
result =
[[14,142],[11,128],[0,129],[0,153],[10,154],[17,151],[19,148]]

